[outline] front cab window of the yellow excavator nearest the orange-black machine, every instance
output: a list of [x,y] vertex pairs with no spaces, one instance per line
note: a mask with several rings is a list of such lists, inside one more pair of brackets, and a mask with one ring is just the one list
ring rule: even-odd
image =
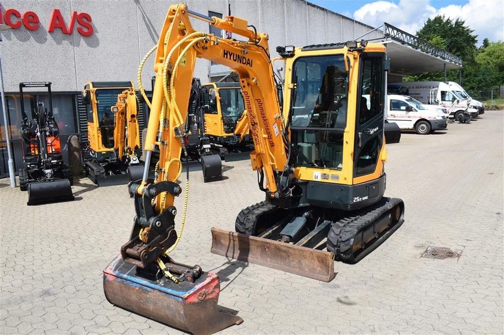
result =
[[98,126],[100,127],[101,142],[106,148],[114,147],[114,115],[110,107],[117,102],[117,95],[124,89],[96,90],[96,110],[98,112]]

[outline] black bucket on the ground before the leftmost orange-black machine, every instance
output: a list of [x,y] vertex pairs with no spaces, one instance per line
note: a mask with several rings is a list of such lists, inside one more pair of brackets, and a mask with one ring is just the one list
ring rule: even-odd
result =
[[68,179],[57,179],[50,182],[28,184],[27,205],[46,204],[74,200],[72,187]]

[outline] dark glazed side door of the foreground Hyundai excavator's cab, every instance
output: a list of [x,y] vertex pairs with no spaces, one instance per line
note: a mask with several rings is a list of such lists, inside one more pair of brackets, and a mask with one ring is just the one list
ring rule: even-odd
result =
[[362,53],[357,91],[354,147],[354,178],[376,169],[384,141],[384,95],[382,53]]

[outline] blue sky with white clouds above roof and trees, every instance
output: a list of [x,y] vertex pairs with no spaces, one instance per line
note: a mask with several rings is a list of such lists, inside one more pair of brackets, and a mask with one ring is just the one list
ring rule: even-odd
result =
[[308,0],[349,18],[379,27],[383,22],[410,34],[423,27],[429,18],[445,15],[460,18],[478,35],[504,41],[504,0]]

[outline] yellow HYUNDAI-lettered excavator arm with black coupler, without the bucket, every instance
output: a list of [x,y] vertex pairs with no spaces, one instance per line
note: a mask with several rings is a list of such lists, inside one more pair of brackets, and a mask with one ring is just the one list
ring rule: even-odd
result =
[[[173,228],[173,203],[181,193],[175,182],[181,171],[181,151],[187,155],[184,122],[197,58],[221,63],[238,73],[255,145],[250,153],[253,169],[261,180],[265,177],[265,190],[271,197],[279,197],[278,178],[287,161],[288,141],[276,95],[268,35],[247,28],[247,22],[240,18],[207,18],[217,28],[248,38],[222,39],[195,31],[191,16],[201,18],[183,4],[170,7],[157,47],[144,176],[141,183],[130,184],[130,192],[137,198],[137,218],[130,242],[122,247],[124,260],[139,267],[147,267],[165,255],[180,238]],[[156,183],[148,184],[148,166],[155,146],[160,150],[157,178]],[[155,222],[159,227],[153,227]]]

